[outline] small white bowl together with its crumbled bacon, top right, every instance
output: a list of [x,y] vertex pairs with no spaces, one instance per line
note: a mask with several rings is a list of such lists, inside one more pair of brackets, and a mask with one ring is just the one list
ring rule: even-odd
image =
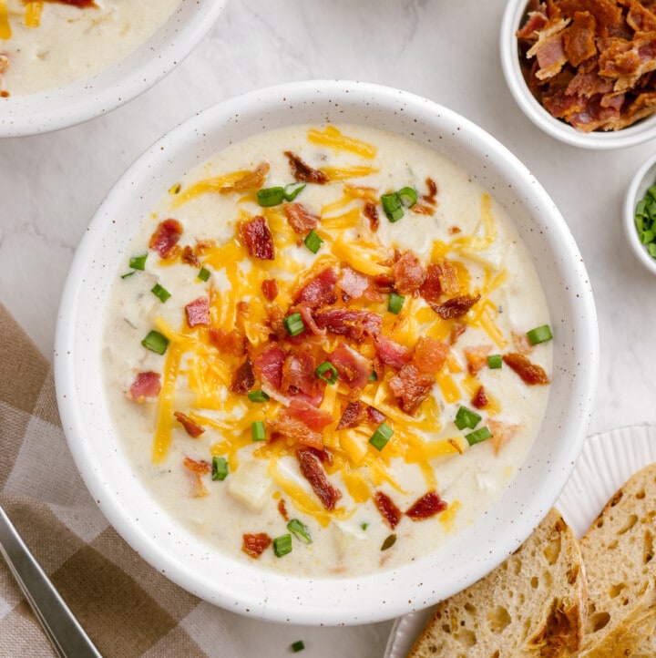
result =
[[656,14],[640,3],[513,0],[501,64],[538,128],[587,149],[656,137]]

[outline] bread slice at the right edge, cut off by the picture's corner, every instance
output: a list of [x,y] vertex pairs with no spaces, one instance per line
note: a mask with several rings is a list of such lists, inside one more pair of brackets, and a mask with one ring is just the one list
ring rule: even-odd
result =
[[580,540],[588,573],[581,658],[656,655],[656,464],[608,501]]

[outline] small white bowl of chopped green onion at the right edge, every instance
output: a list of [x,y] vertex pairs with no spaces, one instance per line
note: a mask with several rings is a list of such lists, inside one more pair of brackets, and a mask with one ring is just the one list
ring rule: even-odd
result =
[[624,229],[638,260],[656,274],[656,155],[642,164],[630,182]]

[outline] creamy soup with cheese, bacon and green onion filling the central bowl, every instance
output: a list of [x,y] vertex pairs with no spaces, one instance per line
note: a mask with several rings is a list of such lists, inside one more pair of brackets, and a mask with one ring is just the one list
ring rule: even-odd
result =
[[216,550],[314,577],[401,565],[546,440],[538,275],[449,159],[296,126],[170,183],[117,272],[104,375],[132,468]]

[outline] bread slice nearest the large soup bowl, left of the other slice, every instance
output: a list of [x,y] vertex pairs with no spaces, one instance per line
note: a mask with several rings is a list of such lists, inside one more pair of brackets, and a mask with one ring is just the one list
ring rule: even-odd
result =
[[408,658],[566,658],[585,610],[579,542],[551,509],[507,560],[438,604]]

